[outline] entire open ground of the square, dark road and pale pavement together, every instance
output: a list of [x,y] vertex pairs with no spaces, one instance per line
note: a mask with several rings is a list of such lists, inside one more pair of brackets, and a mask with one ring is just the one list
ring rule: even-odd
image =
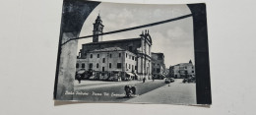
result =
[[[75,82],[74,100],[87,102],[133,102],[133,103],[196,103],[195,84],[183,84],[182,80],[175,80],[170,86],[164,80],[129,81],[129,82],[102,82],[82,81]],[[125,97],[124,86],[136,86],[133,97]]]

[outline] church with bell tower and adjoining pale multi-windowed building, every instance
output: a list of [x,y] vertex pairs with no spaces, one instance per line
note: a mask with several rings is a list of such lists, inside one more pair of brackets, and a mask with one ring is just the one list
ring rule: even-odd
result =
[[152,79],[152,38],[149,30],[142,31],[135,38],[102,41],[102,35],[98,34],[103,33],[103,27],[100,16],[97,16],[93,42],[82,45],[77,70],[92,69],[98,78],[105,80],[112,76],[121,80]]

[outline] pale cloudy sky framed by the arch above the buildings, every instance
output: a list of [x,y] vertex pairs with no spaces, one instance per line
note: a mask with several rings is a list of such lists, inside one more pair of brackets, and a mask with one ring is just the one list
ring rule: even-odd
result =
[[[103,32],[107,32],[160,22],[188,15],[191,12],[186,5],[100,3],[85,21],[80,36],[93,34],[93,24],[98,14],[104,25]],[[194,63],[192,17],[154,27],[103,35],[102,40],[136,38],[145,29],[149,29],[152,36],[152,52],[164,54],[166,68],[179,63],[188,63],[189,60]],[[93,42],[92,37],[80,39],[78,52],[82,48],[82,44],[89,42]]]

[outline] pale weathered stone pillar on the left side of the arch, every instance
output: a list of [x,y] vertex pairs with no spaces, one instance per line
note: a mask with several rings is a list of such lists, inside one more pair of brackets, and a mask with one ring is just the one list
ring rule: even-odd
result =
[[[64,32],[62,36],[62,42],[67,41],[69,38],[77,37],[72,32]],[[71,40],[61,46],[58,85],[57,90],[55,90],[57,91],[57,100],[73,99],[72,92],[74,92],[74,80],[76,74],[77,46],[77,40]]]

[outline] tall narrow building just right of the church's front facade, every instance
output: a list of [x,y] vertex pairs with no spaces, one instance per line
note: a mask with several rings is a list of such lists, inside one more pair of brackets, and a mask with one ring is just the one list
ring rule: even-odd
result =
[[152,76],[155,79],[163,79],[165,77],[163,53],[152,53]]

